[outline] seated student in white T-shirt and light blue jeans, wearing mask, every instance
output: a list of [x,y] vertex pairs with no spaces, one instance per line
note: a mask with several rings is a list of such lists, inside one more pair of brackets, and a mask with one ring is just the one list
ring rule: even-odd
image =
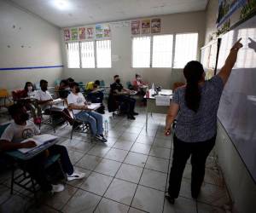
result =
[[85,101],[84,95],[80,93],[79,83],[71,83],[70,89],[71,93],[67,96],[67,103],[68,107],[73,110],[74,117],[88,122],[92,135],[97,140],[107,142],[107,139],[103,136],[102,115],[88,110],[89,103]]

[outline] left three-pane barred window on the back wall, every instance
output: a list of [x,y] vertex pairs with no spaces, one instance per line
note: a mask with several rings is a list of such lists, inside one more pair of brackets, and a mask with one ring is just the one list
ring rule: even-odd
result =
[[68,68],[111,67],[111,40],[66,43]]

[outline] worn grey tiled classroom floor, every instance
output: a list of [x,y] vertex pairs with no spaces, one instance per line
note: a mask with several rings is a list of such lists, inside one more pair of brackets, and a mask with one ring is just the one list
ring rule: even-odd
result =
[[[108,143],[90,142],[86,135],[69,139],[70,127],[56,130],[60,143],[67,147],[76,170],[86,178],[67,182],[65,191],[42,195],[35,207],[27,193],[16,187],[9,195],[9,171],[0,174],[0,212],[225,212],[230,204],[224,180],[213,152],[207,160],[205,182],[198,201],[190,195],[191,165],[187,164],[180,196],[174,205],[165,199],[168,170],[172,164],[172,139],[163,135],[165,115],[153,114],[145,130],[145,114],[136,121],[123,117],[108,119]],[[52,133],[43,126],[43,133]]]

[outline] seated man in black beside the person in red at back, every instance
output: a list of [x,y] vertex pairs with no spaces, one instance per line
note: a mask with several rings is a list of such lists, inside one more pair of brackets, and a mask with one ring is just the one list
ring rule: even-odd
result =
[[[123,85],[120,83],[120,78],[119,75],[115,75],[113,77],[114,83],[110,85],[110,95],[114,99],[119,101],[119,102],[124,102],[125,106],[127,107],[126,113],[127,113],[127,118],[135,120],[135,115],[138,115],[137,112],[134,112],[134,107],[136,104],[136,100],[134,98],[131,98],[129,95],[131,95],[131,90],[130,89],[125,89]],[[112,99],[112,97],[109,97]],[[114,100],[113,99],[113,100]]]

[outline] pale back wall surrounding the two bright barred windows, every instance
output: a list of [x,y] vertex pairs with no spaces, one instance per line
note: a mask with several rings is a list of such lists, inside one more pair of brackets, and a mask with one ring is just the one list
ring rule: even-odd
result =
[[[200,48],[205,39],[205,12],[171,14],[160,16],[161,34],[178,32],[198,32],[198,59]],[[152,83],[159,83],[164,88],[172,88],[176,81],[183,80],[181,70],[171,68],[131,68],[131,25],[115,27],[110,24],[112,30],[112,55],[119,55],[119,61],[113,61],[112,68],[98,69],[69,69],[67,68],[66,52],[62,37],[62,55],[65,64],[64,77],[73,77],[77,81],[90,81],[96,78],[104,79],[106,83],[113,82],[113,75],[119,74],[125,84],[131,81],[135,73],[140,73],[143,79]],[[185,51],[185,49],[184,49]]]

